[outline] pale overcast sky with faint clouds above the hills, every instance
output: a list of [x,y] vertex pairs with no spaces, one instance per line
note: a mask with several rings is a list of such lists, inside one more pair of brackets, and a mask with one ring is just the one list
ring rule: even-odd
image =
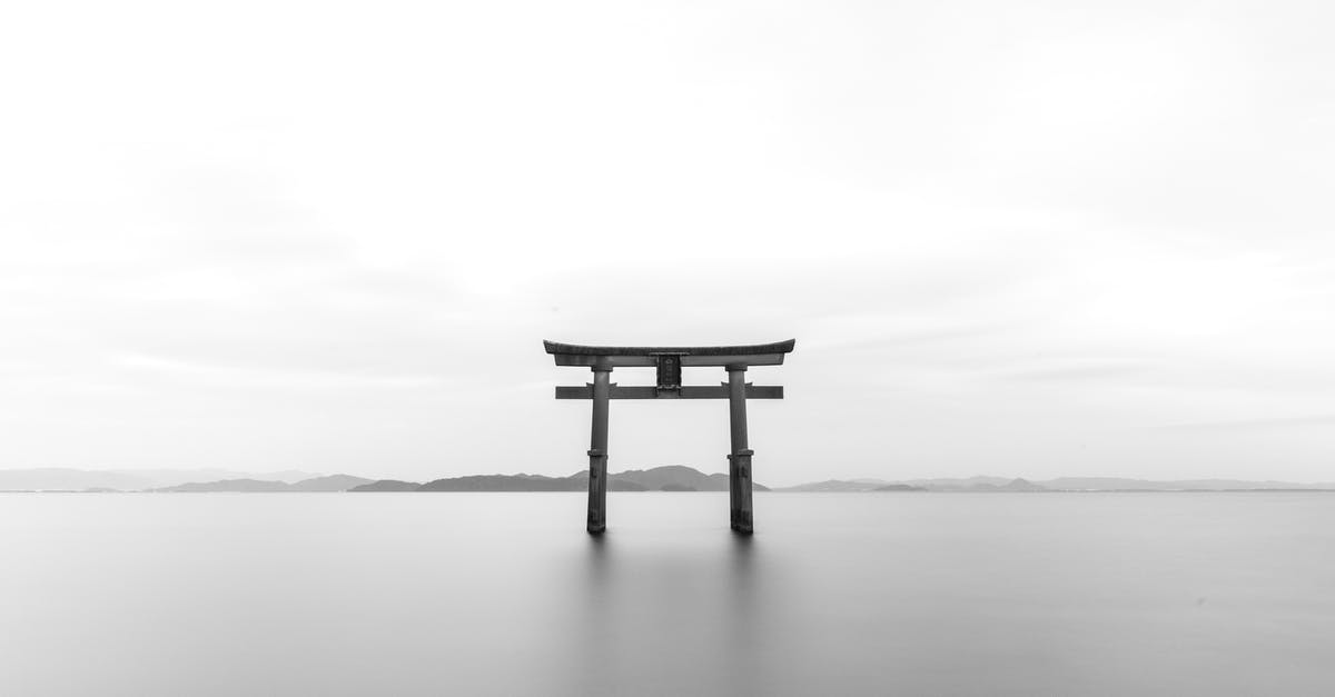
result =
[[[0,467],[1335,481],[1328,3],[15,3]],[[726,379],[688,370],[692,383]],[[618,370],[622,385],[650,383]],[[610,467],[725,471],[728,405]]]

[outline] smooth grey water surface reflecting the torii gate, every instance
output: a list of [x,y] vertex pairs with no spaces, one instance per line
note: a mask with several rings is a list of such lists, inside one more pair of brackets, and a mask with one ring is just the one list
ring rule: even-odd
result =
[[1335,495],[0,495],[0,694],[1332,694]]

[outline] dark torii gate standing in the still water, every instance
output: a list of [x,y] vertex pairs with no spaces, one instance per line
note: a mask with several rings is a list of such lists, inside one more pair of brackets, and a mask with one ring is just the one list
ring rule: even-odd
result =
[[[733,453],[728,455],[733,530],[752,533],[752,470],[754,454],[746,446],[746,399],[782,399],[780,386],[745,382],[750,366],[778,366],[796,339],[754,346],[577,346],[543,340],[558,366],[587,366],[593,383],[557,387],[557,399],[593,399],[593,437],[589,445],[589,531],[607,527],[607,401],[609,399],[724,399],[729,401]],[[681,383],[682,366],[722,366],[728,382],[718,386]],[[657,367],[658,383],[618,386],[614,367]]]

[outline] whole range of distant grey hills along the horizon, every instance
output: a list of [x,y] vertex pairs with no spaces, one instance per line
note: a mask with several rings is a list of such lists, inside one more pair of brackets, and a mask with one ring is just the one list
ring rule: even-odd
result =
[[[234,470],[75,470],[43,467],[0,470],[0,491],[163,491],[163,493],[300,493],[300,491],[585,491],[587,471],[569,477],[542,474],[473,474],[430,482],[368,479],[348,474],[306,471],[244,473]],[[607,475],[610,491],[726,491],[726,474],[705,474],[672,465]],[[756,485],[757,491],[769,491]],[[776,491],[1320,491],[1335,483],[1295,483],[1246,479],[1128,479],[1119,477],[1059,477],[1028,481],[1007,477],[937,479],[826,479]]]

